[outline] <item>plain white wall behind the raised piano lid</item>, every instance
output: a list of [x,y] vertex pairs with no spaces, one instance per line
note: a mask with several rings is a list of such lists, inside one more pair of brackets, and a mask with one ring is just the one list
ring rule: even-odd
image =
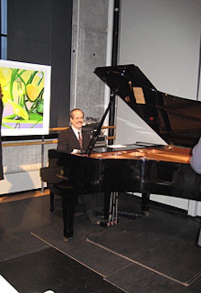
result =
[[[162,92],[195,100],[201,1],[123,0],[121,3],[119,64],[137,65]],[[117,108],[117,143],[162,142],[120,99]],[[186,200],[155,195],[152,197],[188,209],[190,214],[201,215],[198,203],[194,206],[194,203]]]

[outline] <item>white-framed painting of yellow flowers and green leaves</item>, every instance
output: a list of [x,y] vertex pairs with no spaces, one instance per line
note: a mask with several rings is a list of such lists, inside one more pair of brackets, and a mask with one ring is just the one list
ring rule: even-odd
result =
[[51,66],[0,60],[2,136],[49,133]]

